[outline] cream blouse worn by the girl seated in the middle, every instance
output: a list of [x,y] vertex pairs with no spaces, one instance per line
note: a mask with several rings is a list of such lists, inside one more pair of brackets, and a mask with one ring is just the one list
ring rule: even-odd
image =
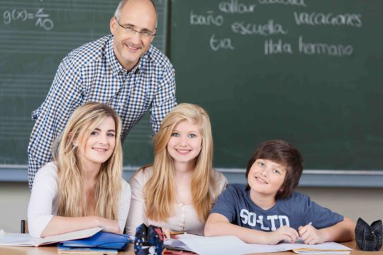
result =
[[[140,169],[133,175],[131,181],[129,181],[132,188],[132,200],[128,222],[126,223],[126,232],[134,235],[135,228],[141,223],[145,223],[147,226],[169,227],[177,232],[182,231],[190,234],[204,235],[205,222],[199,220],[196,210],[194,210],[194,205],[175,204],[172,209],[172,216],[167,218],[166,222],[148,220],[145,215],[146,208],[143,188],[152,176],[152,172],[152,167]],[[213,197],[213,203],[215,203],[217,196],[226,188],[228,180],[223,174],[216,170],[213,170],[213,178],[216,181],[216,192],[214,193],[213,188],[211,188],[211,195]]]

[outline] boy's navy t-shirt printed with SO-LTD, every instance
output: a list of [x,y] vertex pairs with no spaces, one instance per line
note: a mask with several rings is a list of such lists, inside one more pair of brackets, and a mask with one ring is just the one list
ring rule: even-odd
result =
[[268,210],[263,210],[250,199],[250,190],[243,184],[229,185],[218,197],[211,213],[216,212],[240,227],[274,231],[282,226],[298,229],[312,223],[316,229],[331,227],[343,216],[321,207],[309,196],[294,192],[290,198],[279,199]]

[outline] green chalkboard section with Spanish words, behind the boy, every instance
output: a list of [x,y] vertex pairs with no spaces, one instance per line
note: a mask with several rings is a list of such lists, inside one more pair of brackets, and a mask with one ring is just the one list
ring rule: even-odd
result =
[[305,169],[383,169],[383,2],[172,1],[177,101],[209,111],[216,167],[292,142]]

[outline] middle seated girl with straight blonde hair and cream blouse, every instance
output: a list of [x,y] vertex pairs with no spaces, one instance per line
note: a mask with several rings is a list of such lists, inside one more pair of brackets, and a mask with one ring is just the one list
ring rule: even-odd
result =
[[168,113],[154,137],[155,159],[132,177],[131,210],[126,230],[141,223],[170,231],[204,234],[216,197],[226,188],[212,169],[213,138],[203,108],[181,103]]

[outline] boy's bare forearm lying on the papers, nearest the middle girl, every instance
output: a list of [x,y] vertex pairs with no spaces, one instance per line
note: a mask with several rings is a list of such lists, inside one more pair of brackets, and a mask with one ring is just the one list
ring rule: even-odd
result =
[[205,225],[205,236],[234,235],[243,242],[251,244],[278,244],[282,241],[295,242],[298,233],[291,227],[280,227],[274,232],[263,232],[231,224],[228,218],[219,214],[209,215]]

